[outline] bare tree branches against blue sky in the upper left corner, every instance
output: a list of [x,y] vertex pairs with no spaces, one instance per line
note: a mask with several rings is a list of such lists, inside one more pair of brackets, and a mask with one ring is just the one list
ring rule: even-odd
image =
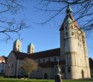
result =
[[[20,1],[20,2],[19,2]],[[24,20],[16,20],[17,12],[22,8],[23,0],[0,0],[0,40],[9,40],[11,33],[27,28]]]

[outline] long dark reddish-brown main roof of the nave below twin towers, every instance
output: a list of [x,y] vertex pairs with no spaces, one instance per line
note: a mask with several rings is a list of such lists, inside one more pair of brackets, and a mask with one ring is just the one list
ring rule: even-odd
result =
[[19,59],[19,60],[23,60],[25,58],[39,59],[39,58],[45,58],[45,57],[59,56],[60,48],[37,52],[33,54],[27,54],[27,53],[17,52],[17,51],[12,51],[12,53],[15,55],[16,59]]

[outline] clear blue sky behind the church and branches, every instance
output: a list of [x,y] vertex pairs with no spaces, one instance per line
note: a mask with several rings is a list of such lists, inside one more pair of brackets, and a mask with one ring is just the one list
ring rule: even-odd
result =
[[[41,24],[45,20],[47,20],[52,14],[50,12],[46,13],[42,10],[39,10],[35,7],[36,0],[32,0],[33,2],[27,0],[27,2],[23,2],[22,5],[24,6],[22,10],[18,12],[17,15],[12,15],[12,17],[16,18],[17,20],[23,19],[27,26],[30,28],[24,29],[20,32],[20,39],[22,42],[21,52],[27,52],[27,46],[30,43],[35,45],[35,52],[55,49],[60,47],[60,32],[59,28],[65,18],[65,10],[60,13],[57,17],[53,20]],[[50,6],[50,7],[53,7]],[[58,7],[57,7],[58,8]],[[75,8],[73,9],[73,13],[75,12]],[[7,15],[6,15],[7,16]],[[11,17],[11,16],[10,16]],[[81,21],[78,21],[78,24],[81,24]],[[9,53],[13,49],[13,42],[18,39],[16,34],[12,34],[12,40],[8,41],[7,43],[4,41],[0,42],[0,56],[8,56]],[[2,37],[2,36],[1,36]],[[87,46],[88,46],[88,54],[89,57],[93,58],[93,51],[92,46],[93,44],[92,38],[87,38]]]

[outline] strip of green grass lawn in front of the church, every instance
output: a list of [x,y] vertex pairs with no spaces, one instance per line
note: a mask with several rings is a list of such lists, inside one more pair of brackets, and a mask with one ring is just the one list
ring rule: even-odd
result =
[[[13,78],[0,78],[0,82],[55,82],[54,80],[43,79],[13,79]],[[63,80],[62,82],[93,82],[93,80]]]

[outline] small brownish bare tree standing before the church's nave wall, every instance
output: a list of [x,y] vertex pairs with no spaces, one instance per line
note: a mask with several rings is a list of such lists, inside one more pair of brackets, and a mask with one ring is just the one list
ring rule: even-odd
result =
[[21,65],[21,68],[26,71],[26,73],[28,74],[28,78],[29,78],[31,72],[38,69],[38,64],[33,59],[25,58]]

